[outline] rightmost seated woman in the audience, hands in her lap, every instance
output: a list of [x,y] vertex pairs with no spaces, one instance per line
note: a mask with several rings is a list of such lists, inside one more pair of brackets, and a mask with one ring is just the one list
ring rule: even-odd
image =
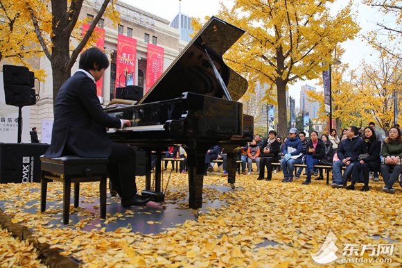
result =
[[[398,127],[393,126],[390,129],[388,137],[384,140],[382,155],[384,164],[381,165],[381,174],[383,174],[385,183],[383,192],[394,194],[395,189],[392,188],[392,185],[398,181],[398,177],[402,172],[402,137],[401,130]],[[394,170],[392,174],[390,174],[390,169]]]

